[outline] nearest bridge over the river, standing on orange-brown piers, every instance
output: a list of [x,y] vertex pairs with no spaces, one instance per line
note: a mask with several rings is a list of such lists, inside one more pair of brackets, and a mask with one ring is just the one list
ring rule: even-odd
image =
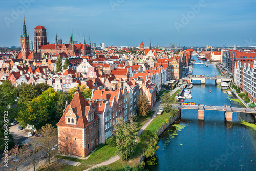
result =
[[[238,108],[231,106],[206,106],[206,105],[176,105],[177,109],[198,110],[198,119],[204,120],[204,110],[224,111],[227,121],[233,121],[233,112],[250,113],[256,118],[254,109]],[[181,111],[180,111],[181,113]]]

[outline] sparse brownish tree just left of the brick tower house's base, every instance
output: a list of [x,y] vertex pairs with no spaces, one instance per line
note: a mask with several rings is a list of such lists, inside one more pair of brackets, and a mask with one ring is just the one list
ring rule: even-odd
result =
[[51,124],[46,124],[42,127],[41,135],[42,149],[46,153],[48,164],[50,164],[50,157],[57,151],[52,150],[52,147],[58,143],[57,129]]

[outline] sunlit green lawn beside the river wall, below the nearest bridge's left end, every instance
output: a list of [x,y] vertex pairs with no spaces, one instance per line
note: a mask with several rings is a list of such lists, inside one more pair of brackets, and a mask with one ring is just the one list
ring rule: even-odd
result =
[[165,119],[169,119],[170,113],[163,112],[162,115],[157,115],[151,123],[146,127],[146,130],[151,130],[154,133],[157,133],[157,131],[165,124]]

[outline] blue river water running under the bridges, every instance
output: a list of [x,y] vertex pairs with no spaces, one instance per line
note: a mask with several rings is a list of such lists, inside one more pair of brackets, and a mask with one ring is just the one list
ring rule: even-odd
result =
[[[193,75],[203,74],[219,75],[219,72],[215,65],[195,64]],[[215,80],[206,80],[205,85],[193,82],[191,90],[193,98],[185,101],[198,104],[200,100],[200,104],[213,106],[230,105],[229,96],[215,85]],[[242,107],[238,102],[231,102],[232,107]],[[147,169],[256,170],[256,131],[242,125],[241,119],[252,121],[253,117],[234,112],[233,122],[226,122],[224,111],[206,110],[204,120],[198,120],[197,110],[182,110],[181,119],[159,138],[157,164],[147,166]]]

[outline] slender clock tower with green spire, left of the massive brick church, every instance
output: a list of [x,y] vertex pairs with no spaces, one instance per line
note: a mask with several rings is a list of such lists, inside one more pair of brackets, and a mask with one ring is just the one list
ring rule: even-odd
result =
[[25,17],[23,22],[22,35],[20,35],[20,44],[22,48],[22,59],[26,59],[29,56],[29,36],[27,35],[27,28],[25,24]]

